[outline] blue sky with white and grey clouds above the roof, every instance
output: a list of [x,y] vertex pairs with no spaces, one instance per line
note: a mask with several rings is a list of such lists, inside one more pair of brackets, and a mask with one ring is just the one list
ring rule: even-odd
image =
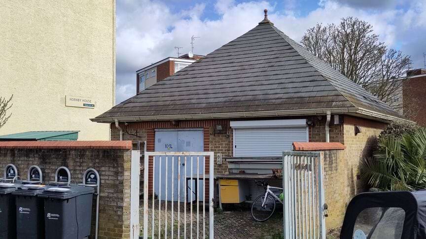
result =
[[116,103],[136,93],[135,71],[191,49],[206,55],[269,19],[300,41],[317,23],[354,16],[373,25],[380,40],[424,67],[426,0],[117,0]]

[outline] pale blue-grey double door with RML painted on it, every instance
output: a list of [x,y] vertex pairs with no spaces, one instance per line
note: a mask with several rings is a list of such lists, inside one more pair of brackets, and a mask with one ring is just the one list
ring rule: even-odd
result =
[[[179,130],[171,130],[171,129],[158,129],[155,131],[155,151],[157,152],[202,152],[204,151],[204,136],[202,129],[179,129]],[[160,156],[156,156],[160,157]],[[173,183],[175,185],[180,184],[180,193],[178,193],[178,187],[174,187],[174,201],[178,201],[178,197],[176,195],[180,195],[180,201],[184,201],[184,193],[186,192],[188,195],[188,202],[191,199],[191,194],[195,195],[195,191],[199,192],[199,197],[203,198],[203,184],[204,181],[200,180],[198,184],[198,188],[196,187],[196,178],[193,180],[188,180],[186,191],[183,185],[185,184],[185,168],[186,168],[186,176],[189,178],[191,173],[193,176],[197,175],[197,156],[193,156],[191,160],[191,156],[186,156],[186,164],[183,156],[180,156],[180,164],[178,162],[178,156],[175,158],[166,157],[161,158],[161,164],[156,163],[154,166],[154,177],[166,177],[167,175],[167,183],[169,185],[169,193],[166,194],[166,180],[164,178],[161,180],[161,187],[158,180],[154,180],[154,191],[157,195],[160,196],[160,200],[172,201],[172,193],[170,192],[170,185]],[[174,170],[173,178],[172,178],[172,167]],[[180,169],[179,169],[180,168]],[[199,175],[202,175],[204,172],[204,160],[203,157],[199,158],[198,172]],[[161,170],[161,173],[160,173]],[[178,171],[180,170],[180,181],[178,180]],[[167,171],[167,174],[166,174]],[[161,194],[160,192],[161,188]],[[201,189],[201,190],[197,190]],[[166,198],[167,195],[167,198]]]

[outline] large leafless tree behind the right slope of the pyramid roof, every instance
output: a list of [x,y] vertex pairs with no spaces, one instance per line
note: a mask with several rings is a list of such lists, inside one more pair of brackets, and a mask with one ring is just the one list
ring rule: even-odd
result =
[[317,24],[306,30],[301,43],[395,110],[402,107],[395,99],[402,94],[410,57],[380,42],[369,23],[348,17],[338,26]]

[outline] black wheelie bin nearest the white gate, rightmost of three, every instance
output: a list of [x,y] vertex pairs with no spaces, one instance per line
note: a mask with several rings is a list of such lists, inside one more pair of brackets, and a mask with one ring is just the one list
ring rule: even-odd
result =
[[44,190],[46,239],[85,239],[90,236],[92,198],[95,189],[85,186],[56,186]]

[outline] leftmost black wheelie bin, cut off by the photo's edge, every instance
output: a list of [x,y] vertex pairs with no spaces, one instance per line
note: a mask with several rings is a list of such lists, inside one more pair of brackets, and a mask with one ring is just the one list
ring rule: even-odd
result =
[[16,239],[15,197],[21,183],[0,182],[0,239]]

